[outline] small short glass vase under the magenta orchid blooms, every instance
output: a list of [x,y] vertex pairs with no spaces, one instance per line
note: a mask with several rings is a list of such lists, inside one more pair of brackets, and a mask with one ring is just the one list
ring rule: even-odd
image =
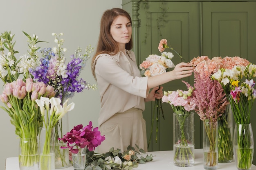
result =
[[78,153],[72,153],[74,170],[84,170],[86,165],[86,147],[80,148]]

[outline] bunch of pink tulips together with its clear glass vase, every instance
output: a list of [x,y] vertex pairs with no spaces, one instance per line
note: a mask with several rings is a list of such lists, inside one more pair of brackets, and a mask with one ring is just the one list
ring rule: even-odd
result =
[[[26,82],[18,78],[16,81],[4,85],[0,100],[5,107],[11,124],[16,128],[15,133],[20,137],[20,168],[34,167],[38,169],[39,152],[37,136],[39,128],[43,126],[43,117],[36,105],[40,96],[52,97],[54,89],[50,85],[32,81],[27,78]],[[26,142],[27,141],[27,142]]]

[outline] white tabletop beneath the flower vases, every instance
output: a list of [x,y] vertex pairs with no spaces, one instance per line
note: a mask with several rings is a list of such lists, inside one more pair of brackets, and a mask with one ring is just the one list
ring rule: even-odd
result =
[[[153,161],[140,163],[138,168],[134,170],[204,170],[203,167],[203,149],[195,149],[195,166],[191,167],[177,167],[173,165],[173,150],[148,152],[152,154]],[[143,155],[146,156],[146,155]],[[218,163],[220,170],[236,170],[235,162],[231,163]],[[5,170],[19,170],[18,157],[10,157],[6,159]],[[72,166],[61,170],[74,170]],[[251,170],[256,170],[256,166],[252,165]]]

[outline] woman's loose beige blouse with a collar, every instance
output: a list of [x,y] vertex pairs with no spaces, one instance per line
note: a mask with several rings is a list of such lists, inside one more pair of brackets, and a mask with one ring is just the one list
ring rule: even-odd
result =
[[99,54],[93,68],[101,98],[99,126],[115,113],[133,107],[144,111],[148,77],[141,77],[134,52],[120,51],[113,56]]

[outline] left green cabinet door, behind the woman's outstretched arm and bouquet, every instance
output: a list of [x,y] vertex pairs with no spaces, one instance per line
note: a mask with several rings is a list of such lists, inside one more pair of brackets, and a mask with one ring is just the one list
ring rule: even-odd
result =
[[[139,27],[139,63],[149,54],[159,54],[157,47],[159,41],[167,39],[168,45],[180,52],[186,61],[200,54],[200,24],[199,2],[141,2],[138,11]],[[166,52],[173,52],[169,49]],[[173,52],[172,61],[178,64],[180,57]],[[193,77],[182,79],[193,84]],[[183,89],[186,85],[181,80],[171,81],[163,85],[164,91]],[[158,135],[156,136],[156,120],[154,115],[154,102],[146,103],[144,118],[147,126],[148,140],[150,127],[154,119],[153,136],[149,150],[173,150],[173,111],[168,103],[162,103],[164,118],[159,115]],[[155,113],[156,114],[156,113]],[[156,143],[157,137],[157,143]],[[200,119],[195,115],[195,139],[200,140]],[[200,148],[200,141],[195,147]]]

